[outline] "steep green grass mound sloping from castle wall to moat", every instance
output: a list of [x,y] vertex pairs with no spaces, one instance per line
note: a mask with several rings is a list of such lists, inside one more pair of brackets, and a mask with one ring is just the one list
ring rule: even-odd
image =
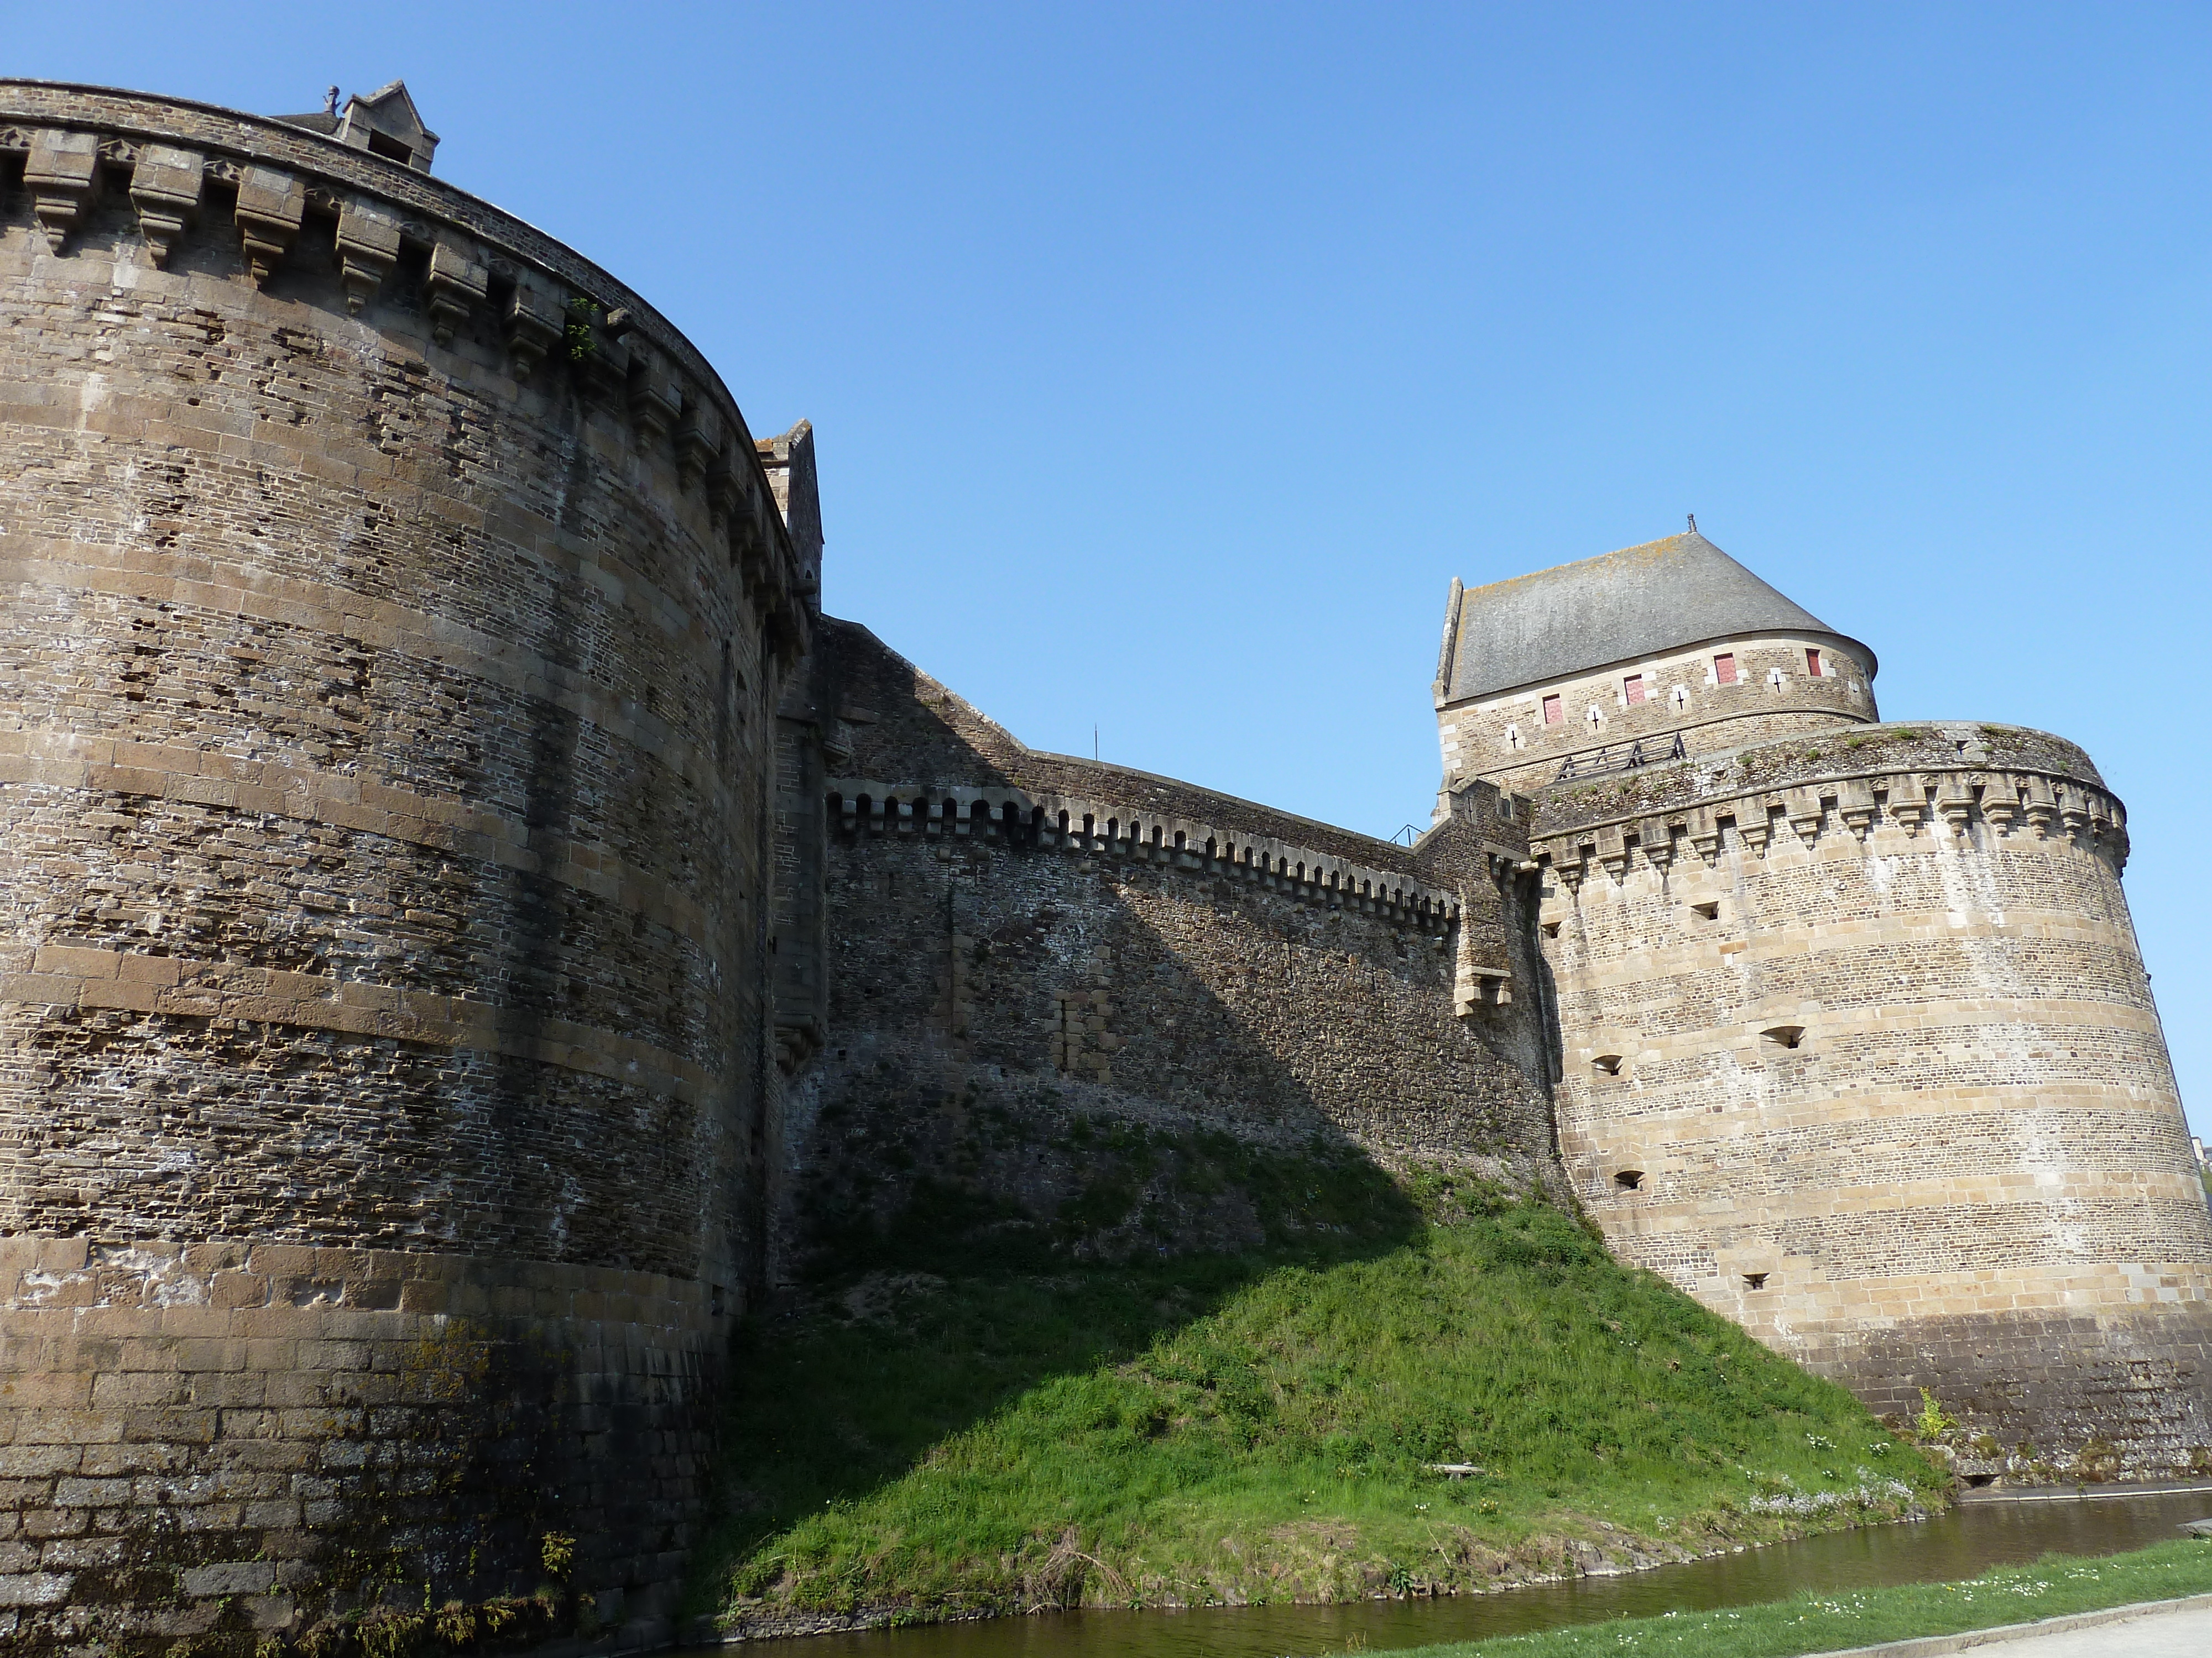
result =
[[737,1357],[695,1612],[1458,1592],[1942,1501],[1843,1388],[1577,1218],[1360,1169],[1307,1167],[1334,1220],[1239,1256],[1022,1271],[922,1227],[887,1253],[931,1271],[847,1258]]

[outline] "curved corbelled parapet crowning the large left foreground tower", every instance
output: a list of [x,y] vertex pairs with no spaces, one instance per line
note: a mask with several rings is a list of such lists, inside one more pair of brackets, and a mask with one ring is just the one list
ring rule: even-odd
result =
[[803,654],[818,577],[785,531],[737,400],[684,334],[571,248],[407,164],[186,99],[0,80],[0,157],[20,157],[55,256],[108,199],[128,199],[157,270],[188,239],[215,237],[268,287],[307,243],[327,243],[354,316],[405,290],[425,345],[453,349],[484,325],[518,387],[573,374],[728,544],[783,665]]

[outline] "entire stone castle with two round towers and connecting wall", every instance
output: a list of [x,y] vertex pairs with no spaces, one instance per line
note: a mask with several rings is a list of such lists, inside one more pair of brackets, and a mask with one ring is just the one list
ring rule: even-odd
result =
[[666,1631],[734,1320],[838,1225],[1250,1236],[1102,1207],[1071,1112],[1573,1194],[1876,1408],[2212,1459],[2079,749],[1878,723],[1697,535],[1453,588],[1416,847],[1029,749],[821,615],[807,427],[434,148],[0,82],[11,1649],[555,1539]]

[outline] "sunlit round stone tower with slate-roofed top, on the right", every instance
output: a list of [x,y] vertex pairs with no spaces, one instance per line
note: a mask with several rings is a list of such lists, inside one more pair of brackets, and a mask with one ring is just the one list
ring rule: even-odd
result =
[[2126,811],[2055,736],[1876,723],[1871,676],[1694,533],[1453,590],[1447,783],[1535,796],[1566,1167],[1624,1258],[1878,1410],[1929,1388],[1973,1479],[2203,1472]]

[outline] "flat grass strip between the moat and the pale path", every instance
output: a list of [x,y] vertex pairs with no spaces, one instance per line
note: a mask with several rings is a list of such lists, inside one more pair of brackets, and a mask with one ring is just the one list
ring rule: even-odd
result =
[[1449,1647],[1411,1647],[1398,1658],[1619,1658],[1694,1654],[1697,1658],[1796,1658],[1871,1647],[1880,1640],[1953,1636],[2006,1623],[2101,1612],[2137,1601],[2212,1594],[2212,1545],[2157,1543],[2132,1554],[2084,1561],[2046,1554],[2035,1565],[2004,1565],[1964,1583],[1911,1583],[1896,1589],[1801,1594],[1732,1612],[1670,1612],[1613,1618],[1537,1636],[1500,1636]]

